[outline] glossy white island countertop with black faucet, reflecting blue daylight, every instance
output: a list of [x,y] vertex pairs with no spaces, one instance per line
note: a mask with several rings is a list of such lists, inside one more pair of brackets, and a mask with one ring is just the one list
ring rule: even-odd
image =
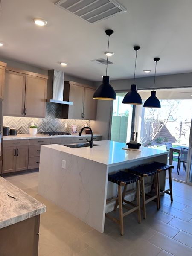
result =
[[52,144],[43,145],[42,147],[52,148],[67,154],[83,157],[107,166],[115,166],[119,163],[130,163],[137,160],[151,158],[153,156],[167,154],[167,151],[145,147],[140,147],[140,151],[123,150],[122,148],[126,146],[125,144],[111,140],[94,141],[93,145],[94,144],[99,146],[93,146],[93,148],[69,148],[63,145]]

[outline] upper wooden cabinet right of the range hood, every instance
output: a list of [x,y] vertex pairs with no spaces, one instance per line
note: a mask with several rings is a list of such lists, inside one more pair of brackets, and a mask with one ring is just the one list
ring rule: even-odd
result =
[[96,120],[95,89],[72,81],[64,82],[64,100],[73,105],[62,105],[62,118]]

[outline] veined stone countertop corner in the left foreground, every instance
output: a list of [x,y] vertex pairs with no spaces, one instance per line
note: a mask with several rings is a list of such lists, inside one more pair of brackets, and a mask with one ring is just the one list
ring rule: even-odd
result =
[[32,218],[46,206],[0,177],[0,228]]

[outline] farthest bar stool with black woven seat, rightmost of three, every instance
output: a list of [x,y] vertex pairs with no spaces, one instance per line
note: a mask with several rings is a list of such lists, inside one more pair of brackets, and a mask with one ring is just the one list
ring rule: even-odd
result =
[[[159,186],[159,198],[161,195],[163,194],[168,194],[170,195],[170,200],[171,202],[173,202],[173,193],[172,193],[172,168],[174,168],[174,166],[170,165],[170,164],[165,164],[165,163],[159,163],[159,162],[154,162],[152,163],[152,166],[154,169],[157,170],[157,179],[158,179],[158,186]],[[165,189],[165,190],[160,190],[160,178],[159,178],[159,174],[160,172],[163,171],[167,171],[168,170],[168,174],[169,174],[169,189]],[[160,204],[160,200],[159,200],[159,208],[161,207]]]

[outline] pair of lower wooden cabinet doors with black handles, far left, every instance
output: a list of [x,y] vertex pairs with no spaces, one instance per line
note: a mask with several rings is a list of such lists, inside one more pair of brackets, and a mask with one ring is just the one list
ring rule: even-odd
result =
[[27,170],[28,151],[28,145],[3,147],[2,173]]

